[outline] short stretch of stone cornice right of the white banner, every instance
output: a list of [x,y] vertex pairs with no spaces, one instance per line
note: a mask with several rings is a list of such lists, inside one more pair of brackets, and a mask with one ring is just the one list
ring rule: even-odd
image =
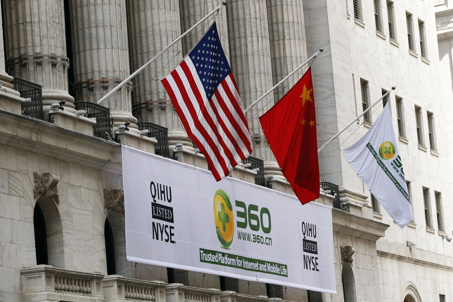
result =
[[377,241],[390,225],[332,208],[332,226],[334,232]]

